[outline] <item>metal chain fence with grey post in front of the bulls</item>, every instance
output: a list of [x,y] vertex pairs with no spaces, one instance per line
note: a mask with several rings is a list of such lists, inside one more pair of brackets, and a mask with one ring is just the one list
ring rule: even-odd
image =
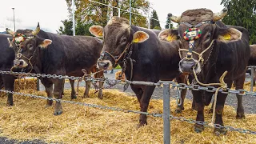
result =
[[[254,66],[250,66],[253,67]],[[56,74],[33,74],[33,73],[23,73],[23,72],[10,72],[10,71],[2,71],[0,70],[0,74],[22,74],[30,77],[41,77],[41,78],[59,78],[59,79],[72,79],[72,80],[78,80],[82,77],[74,77],[74,76],[66,76],[66,75],[56,75]],[[116,111],[122,111],[125,113],[134,113],[134,114],[146,114],[150,115],[153,117],[158,117],[158,118],[163,118],[164,122],[164,143],[170,143],[170,120],[178,120],[181,122],[188,122],[190,124],[198,124],[202,126],[207,126],[207,127],[213,127],[213,128],[222,128],[225,130],[229,131],[237,131],[242,134],[256,134],[256,131],[253,130],[245,130],[242,128],[234,128],[232,126],[221,126],[219,124],[214,124],[214,126],[210,126],[208,122],[201,122],[201,121],[196,121],[193,120],[192,118],[184,118],[184,117],[175,117],[174,115],[170,114],[170,86],[171,89],[178,88],[178,89],[188,89],[188,90],[206,90],[207,92],[215,92],[217,88],[214,86],[199,86],[199,85],[186,85],[184,83],[175,83],[173,81],[159,81],[157,83],[155,82],[141,82],[141,81],[121,81],[121,80],[115,80],[115,79],[108,79],[108,78],[85,78],[85,81],[90,81],[90,82],[106,82],[107,85],[109,86],[114,86],[116,84],[133,84],[133,85],[145,85],[145,86],[163,86],[163,114],[156,114],[156,113],[148,113],[148,112],[142,112],[138,110],[125,110],[122,108],[117,108],[117,107],[110,107],[110,106],[100,106],[100,105],[95,105],[95,104],[89,104],[89,103],[84,103],[84,102],[74,102],[74,101],[66,101],[62,99],[56,99],[56,98],[46,98],[44,96],[38,96],[34,94],[24,94],[24,93],[19,93],[19,92],[14,92],[14,91],[9,91],[9,90],[0,90],[0,92],[4,93],[9,93],[9,94],[18,94],[18,95],[23,95],[27,96],[30,98],[40,98],[40,99],[45,99],[45,100],[52,100],[55,102],[65,102],[65,103],[70,103],[70,104],[76,104],[79,106],[89,106],[89,107],[94,107],[98,109],[105,109],[105,110],[116,110]],[[177,90],[178,90],[177,89]],[[226,91],[219,90],[219,92],[224,93],[224,94],[240,94],[240,95],[251,95],[251,96],[256,96],[255,92],[252,91],[247,91],[247,90],[230,90],[228,88]],[[244,92],[244,94],[241,94],[241,92]],[[177,98],[181,98],[180,93],[178,93]]]

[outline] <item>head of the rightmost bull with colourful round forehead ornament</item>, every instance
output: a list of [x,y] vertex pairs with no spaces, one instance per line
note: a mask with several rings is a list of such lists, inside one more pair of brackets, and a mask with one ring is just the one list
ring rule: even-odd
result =
[[[179,40],[182,47],[179,49],[181,61],[179,70],[183,73],[199,74],[206,64],[214,48],[214,42],[232,42],[241,39],[242,33],[234,28],[221,28],[215,22],[227,13],[224,9],[220,13],[211,10],[186,10],[182,16],[168,14],[169,18],[178,22],[177,30],[163,30],[158,37],[161,40],[172,42]],[[193,71],[194,69],[194,71]]]

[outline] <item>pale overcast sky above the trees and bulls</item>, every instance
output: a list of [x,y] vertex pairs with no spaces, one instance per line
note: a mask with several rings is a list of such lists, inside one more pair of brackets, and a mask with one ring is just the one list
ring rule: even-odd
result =
[[[207,8],[218,12],[223,9],[221,0],[149,0],[158,18],[166,22],[168,13],[180,15],[183,11]],[[56,33],[61,20],[68,18],[66,0],[0,0],[0,31],[6,27],[14,30],[13,10],[15,11],[16,30],[34,29],[40,22],[42,30]],[[161,23],[162,28],[165,23]]]

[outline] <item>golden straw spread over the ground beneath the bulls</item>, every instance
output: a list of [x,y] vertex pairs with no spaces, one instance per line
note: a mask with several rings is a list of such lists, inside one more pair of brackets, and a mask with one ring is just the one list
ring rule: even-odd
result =
[[[26,92],[32,92],[33,90]],[[137,98],[127,97],[119,90],[103,90],[103,100],[90,90],[90,98],[82,99],[84,88],[80,88],[77,102],[114,106],[129,110],[139,110]],[[45,92],[36,92],[46,95]],[[65,90],[63,99],[70,100],[70,90]],[[191,102],[185,101],[182,114],[174,114],[175,101],[171,101],[172,114],[195,118]],[[85,106],[62,103],[63,114],[54,116],[54,107],[44,108],[46,101],[14,96],[14,106],[6,106],[6,98],[0,98],[0,136],[18,140],[42,139],[45,142],[63,143],[163,143],[162,118],[149,116],[148,125],[137,128],[138,114],[127,114],[112,110],[99,110]],[[206,110],[209,110],[207,107]],[[162,100],[151,99],[150,113],[162,113]],[[256,130],[254,114],[246,114],[246,119],[236,120],[234,108],[225,106],[223,121],[226,126]],[[211,114],[205,114],[210,122]],[[215,136],[213,129],[206,128],[202,134],[193,130],[193,125],[177,120],[171,121],[172,143],[255,143],[256,136],[228,132],[226,136]]]

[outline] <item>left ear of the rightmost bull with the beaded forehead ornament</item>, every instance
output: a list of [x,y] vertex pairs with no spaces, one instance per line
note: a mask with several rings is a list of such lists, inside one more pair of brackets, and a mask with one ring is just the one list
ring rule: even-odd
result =
[[159,38],[160,40],[162,40],[162,41],[172,42],[172,41],[178,39],[178,30],[174,30],[174,29],[162,30],[162,31],[158,34],[158,38]]

